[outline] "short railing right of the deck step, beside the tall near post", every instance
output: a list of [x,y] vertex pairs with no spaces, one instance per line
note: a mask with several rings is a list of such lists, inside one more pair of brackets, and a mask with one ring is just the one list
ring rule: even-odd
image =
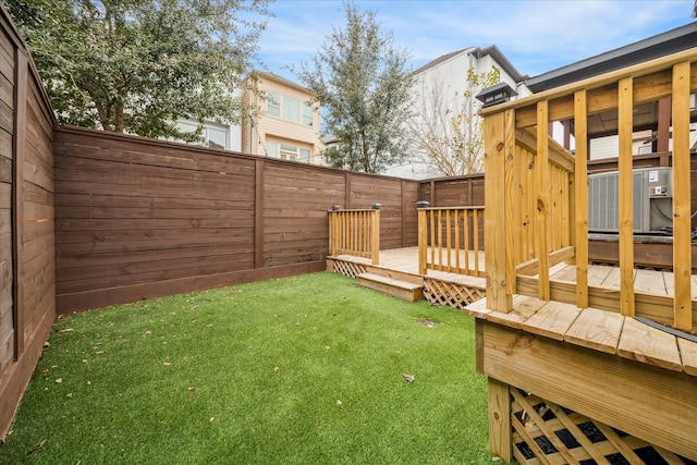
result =
[[479,250],[484,207],[418,209],[418,272],[427,270],[484,277]]

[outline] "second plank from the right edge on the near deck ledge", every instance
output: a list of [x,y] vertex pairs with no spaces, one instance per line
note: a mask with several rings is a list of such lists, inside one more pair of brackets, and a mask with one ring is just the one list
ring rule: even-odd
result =
[[673,371],[682,371],[683,365],[675,336],[644,325],[634,318],[625,318],[617,345],[617,355]]

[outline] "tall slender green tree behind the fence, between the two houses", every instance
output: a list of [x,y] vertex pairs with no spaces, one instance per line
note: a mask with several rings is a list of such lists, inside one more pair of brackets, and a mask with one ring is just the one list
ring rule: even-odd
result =
[[335,140],[325,151],[329,163],[378,173],[406,152],[401,122],[409,111],[409,57],[394,47],[375,12],[352,3],[344,11],[345,28],[333,29],[297,77],[322,103],[325,133]]

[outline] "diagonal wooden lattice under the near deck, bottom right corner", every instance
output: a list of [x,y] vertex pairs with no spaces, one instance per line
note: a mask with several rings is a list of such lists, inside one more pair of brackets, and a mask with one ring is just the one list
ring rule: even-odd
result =
[[513,456],[522,465],[695,463],[514,387],[510,390]]

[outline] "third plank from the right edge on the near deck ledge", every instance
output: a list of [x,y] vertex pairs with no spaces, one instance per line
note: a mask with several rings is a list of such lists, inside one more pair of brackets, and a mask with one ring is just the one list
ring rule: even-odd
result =
[[624,317],[611,311],[586,308],[564,334],[572,344],[614,354],[620,343]]

